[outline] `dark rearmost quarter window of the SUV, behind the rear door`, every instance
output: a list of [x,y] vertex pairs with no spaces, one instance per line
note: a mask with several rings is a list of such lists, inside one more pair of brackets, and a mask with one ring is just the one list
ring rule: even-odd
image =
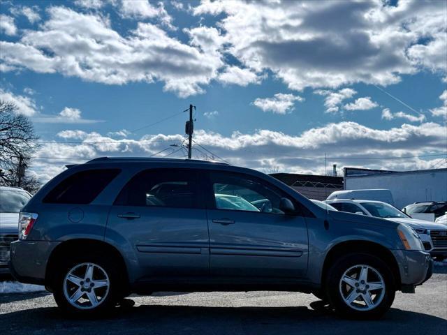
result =
[[76,172],[61,181],[43,202],[51,204],[89,204],[121,170],[103,169]]

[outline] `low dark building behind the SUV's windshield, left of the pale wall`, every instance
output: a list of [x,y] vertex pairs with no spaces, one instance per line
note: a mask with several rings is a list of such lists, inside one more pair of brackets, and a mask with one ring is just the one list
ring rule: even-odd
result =
[[272,173],[270,176],[314,200],[326,200],[330,193],[343,190],[343,177],[295,173]]

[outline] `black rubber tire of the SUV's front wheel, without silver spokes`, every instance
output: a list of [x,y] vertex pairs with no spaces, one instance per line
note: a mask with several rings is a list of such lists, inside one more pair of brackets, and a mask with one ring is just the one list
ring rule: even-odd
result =
[[[377,303],[377,306],[369,310],[360,311],[355,308],[362,308],[362,304],[366,305],[366,301],[365,303],[362,302],[362,298],[359,299],[360,302],[358,303],[353,302],[353,304],[355,305],[355,307],[353,307],[348,305],[342,297],[341,290],[343,289],[340,288],[340,281],[342,279],[342,276],[344,275],[345,271],[351,269],[352,267],[356,267],[357,265],[366,265],[367,267],[371,267],[372,269],[376,270],[383,278],[383,298],[379,303],[380,298],[375,297],[374,299],[376,301],[374,301],[374,303]],[[354,268],[353,271],[356,271],[355,269],[356,268]],[[376,275],[374,271],[369,270],[370,275],[371,273],[372,276]],[[384,313],[386,313],[386,311],[388,311],[395,298],[395,279],[393,277],[393,272],[390,270],[390,267],[388,267],[386,262],[383,262],[383,260],[381,260],[380,258],[368,253],[351,253],[339,258],[328,270],[325,283],[329,303],[332,308],[335,309],[335,312],[342,318],[367,320],[380,318]],[[349,285],[343,287],[346,287],[347,290],[349,290],[348,292],[346,292],[346,295],[351,292],[351,288],[349,287]],[[352,290],[355,289],[352,288]],[[377,296],[380,295],[377,294]]]

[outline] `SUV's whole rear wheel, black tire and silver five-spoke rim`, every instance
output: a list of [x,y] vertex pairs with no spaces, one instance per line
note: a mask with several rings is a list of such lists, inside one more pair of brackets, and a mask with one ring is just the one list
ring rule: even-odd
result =
[[120,282],[116,266],[104,255],[80,255],[57,267],[54,300],[68,313],[103,313],[117,303]]

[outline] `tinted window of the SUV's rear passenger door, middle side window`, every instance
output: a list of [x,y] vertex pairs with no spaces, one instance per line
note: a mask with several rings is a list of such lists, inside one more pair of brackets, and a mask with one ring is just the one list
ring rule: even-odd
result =
[[115,204],[142,207],[198,208],[196,173],[154,169],[138,173],[124,186]]

